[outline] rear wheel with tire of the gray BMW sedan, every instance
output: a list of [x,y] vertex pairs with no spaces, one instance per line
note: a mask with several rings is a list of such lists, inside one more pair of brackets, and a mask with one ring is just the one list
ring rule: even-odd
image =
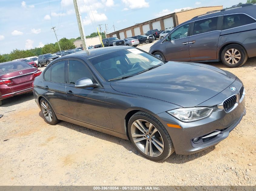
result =
[[48,103],[48,101],[46,101],[44,98],[42,98],[41,102],[40,102],[40,106],[41,106],[43,116],[46,119],[47,123],[49,123],[51,125],[55,125],[56,123],[59,122],[59,120],[57,119],[57,117],[56,117],[54,111],[52,110],[52,107]]

